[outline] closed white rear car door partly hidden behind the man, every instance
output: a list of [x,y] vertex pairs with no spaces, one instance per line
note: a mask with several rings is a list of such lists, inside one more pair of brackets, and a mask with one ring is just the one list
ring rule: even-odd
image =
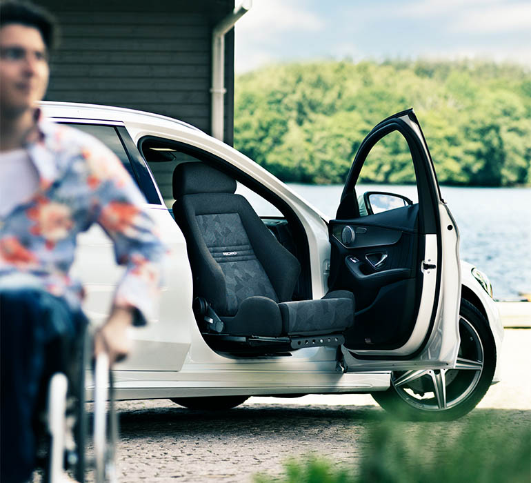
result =
[[[115,366],[116,371],[180,371],[190,348],[188,320],[192,313],[192,274],[186,255],[186,242],[174,223],[166,206],[161,204],[157,186],[140,152],[134,145],[123,123],[93,119],[53,118],[96,137],[120,159],[130,176],[146,197],[150,217],[157,226],[162,241],[168,247],[164,268],[166,285],[161,288],[159,317],[144,327],[134,328],[130,335],[133,348],[130,355]],[[72,275],[80,279],[86,297],[83,310],[94,325],[102,324],[108,317],[116,284],[123,276],[123,266],[115,261],[110,238],[97,224],[93,224],[77,239],[77,256],[72,265]],[[179,284],[174,281],[179,280]],[[134,386],[138,376],[120,373],[119,386]],[[90,376],[89,376],[90,377]]]

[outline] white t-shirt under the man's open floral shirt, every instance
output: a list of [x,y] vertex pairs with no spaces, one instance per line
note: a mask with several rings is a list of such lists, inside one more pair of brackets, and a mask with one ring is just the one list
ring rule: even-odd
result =
[[25,149],[0,152],[0,217],[28,201],[39,188],[39,172]]

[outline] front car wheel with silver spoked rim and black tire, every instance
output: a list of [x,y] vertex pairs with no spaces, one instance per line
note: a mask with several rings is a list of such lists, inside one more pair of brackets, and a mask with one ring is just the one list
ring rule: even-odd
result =
[[496,346],[487,320],[465,299],[459,310],[459,335],[458,368],[394,371],[391,387],[372,393],[374,400],[404,420],[451,421],[472,411],[492,383]]

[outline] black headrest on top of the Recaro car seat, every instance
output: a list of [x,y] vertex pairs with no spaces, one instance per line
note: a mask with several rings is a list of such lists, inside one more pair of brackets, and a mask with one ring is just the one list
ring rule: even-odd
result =
[[173,197],[196,193],[234,193],[236,180],[204,163],[181,163],[173,170]]

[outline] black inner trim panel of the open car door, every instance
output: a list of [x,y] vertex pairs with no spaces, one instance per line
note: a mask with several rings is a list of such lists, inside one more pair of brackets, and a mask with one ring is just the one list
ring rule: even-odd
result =
[[412,333],[418,211],[412,205],[330,222],[332,285],[349,288],[356,298],[348,348],[398,348]]

